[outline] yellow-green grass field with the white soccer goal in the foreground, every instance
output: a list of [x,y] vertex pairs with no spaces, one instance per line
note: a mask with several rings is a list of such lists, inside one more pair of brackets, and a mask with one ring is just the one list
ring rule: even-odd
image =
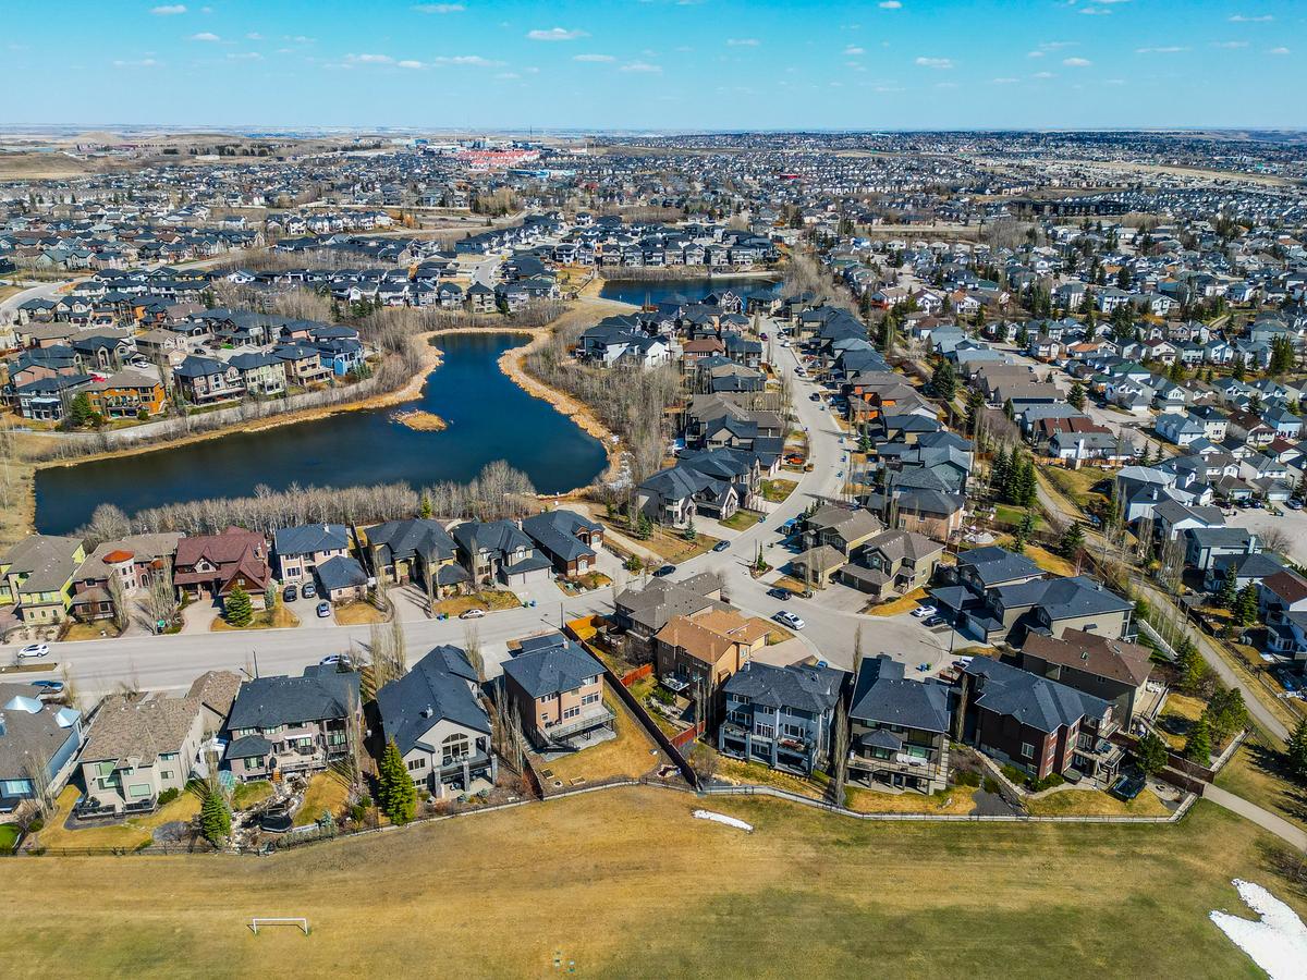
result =
[[[473,977],[1225,979],[1260,976],[1206,917],[1249,915],[1231,878],[1307,911],[1268,868],[1270,839],[1202,802],[1162,827],[712,802],[753,834],[697,805],[621,789],[259,860],[24,858],[7,894],[31,900],[8,903],[0,958],[14,977],[319,977],[392,958],[396,975]],[[312,934],[254,936],[251,915],[307,916]]]

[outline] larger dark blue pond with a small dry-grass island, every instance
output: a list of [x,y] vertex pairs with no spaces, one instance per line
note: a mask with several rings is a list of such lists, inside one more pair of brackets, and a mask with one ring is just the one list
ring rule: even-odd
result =
[[511,333],[439,338],[444,363],[403,408],[439,416],[450,423],[444,431],[403,426],[391,419],[392,406],[42,469],[37,528],[71,532],[101,503],[131,515],[166,503],[246,497],[259,483],[282,490],[291,483],[467,482],[494,460],[523,470],[541,493],[584,486],[603,472],[604,447],[499,370],[499,355],[523,344],[524,337]]

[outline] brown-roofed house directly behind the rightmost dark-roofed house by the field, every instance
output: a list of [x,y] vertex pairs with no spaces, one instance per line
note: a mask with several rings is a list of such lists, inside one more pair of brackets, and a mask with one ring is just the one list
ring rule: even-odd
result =
[[1112,717],[1129,728],[1153,670],[1148,647],[1084,630],[1060,639],[1031,634],[1021,648],[1021,668],[1112,703]]

